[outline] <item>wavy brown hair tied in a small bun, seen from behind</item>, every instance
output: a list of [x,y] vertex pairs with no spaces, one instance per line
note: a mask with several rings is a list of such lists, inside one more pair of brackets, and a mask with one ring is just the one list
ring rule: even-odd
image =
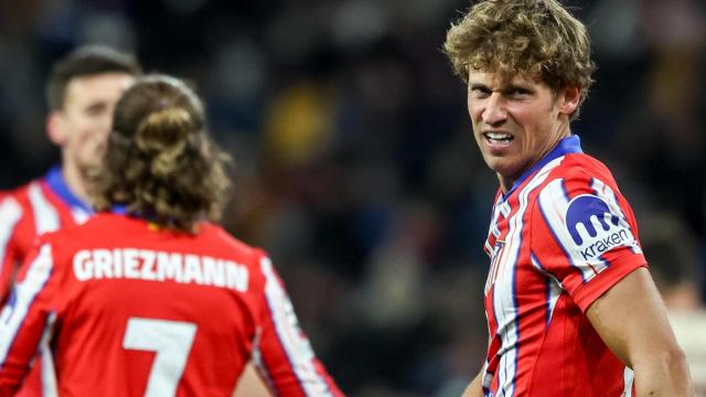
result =
[[210,139],[193,90],[165,75],[138,78],[115,108],[94,173],[96,208],[124,205],[161,227],[195,233],[200,219],[221,216],[229,161]]

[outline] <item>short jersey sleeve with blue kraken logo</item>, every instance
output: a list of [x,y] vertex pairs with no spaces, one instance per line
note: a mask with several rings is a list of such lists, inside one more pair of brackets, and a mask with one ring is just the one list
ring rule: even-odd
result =
[[539,192],[531,215],[533,266],[556,278],[584,312],[646,265],[632,210],[607,180],[612,178],[586,172],[556,179]]

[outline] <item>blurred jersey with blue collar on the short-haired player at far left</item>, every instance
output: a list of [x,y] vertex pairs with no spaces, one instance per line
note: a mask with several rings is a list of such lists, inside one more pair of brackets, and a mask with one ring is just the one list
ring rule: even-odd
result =
[[[30,253],[38,236],[85,222],[93,210],[76,197],[58,167],[43,178],[15,190],[3,192],[0,201],[0,301],[10,294],[14,275]],[[47,346],[38,352],[46,357]],[[56,395],[50,358],[32,366],[18,397],[53,397]]]

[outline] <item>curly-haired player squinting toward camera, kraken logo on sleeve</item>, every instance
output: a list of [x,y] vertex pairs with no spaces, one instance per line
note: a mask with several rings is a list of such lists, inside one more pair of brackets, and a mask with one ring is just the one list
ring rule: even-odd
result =
[[585,26],[556,0],[480,1],[445,51],[500,180],[489,350],[466,395],[691,396],[630,205],[569,128],[595,69]]

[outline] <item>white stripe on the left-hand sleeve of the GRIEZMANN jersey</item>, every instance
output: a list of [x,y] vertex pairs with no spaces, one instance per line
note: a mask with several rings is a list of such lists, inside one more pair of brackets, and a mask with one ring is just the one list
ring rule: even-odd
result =
[[15,285],[10,302],[0,314],[0,363],[4,363],[14,335],[22,325],[34,297],[49,280],[53,265],[52,247],[44,244],[30,265],[24,279]]

